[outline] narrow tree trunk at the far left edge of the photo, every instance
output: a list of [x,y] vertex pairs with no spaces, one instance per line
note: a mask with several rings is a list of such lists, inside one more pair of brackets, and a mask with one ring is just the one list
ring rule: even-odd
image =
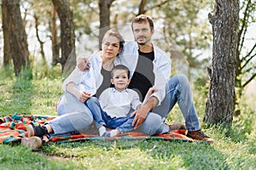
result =
[[8,11],[7,11],[7,1],[2,3],[2,20],[3,20],[3,66],[6,67],[10,63],[11,51],[9,47],[9,26],[8,26]]

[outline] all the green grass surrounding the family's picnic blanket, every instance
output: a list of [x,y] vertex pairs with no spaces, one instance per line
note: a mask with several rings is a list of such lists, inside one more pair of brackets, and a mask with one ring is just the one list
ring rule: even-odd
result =
[[[55,102],[61,76],[33,73],[33,79],[16,78],[0,71],[0,116],[15,112],[56,115]],[[35,76],[36,75],[36,76]],[[39,75],[39,76],[38,76]],[[205,92],[195,90],[200,121]],[[175,107],[169,120],[183,122]],[[241,115],[231,127],[206,127],[214,144],[161,140],[88,141],[44,144],[32,151],[20,144],[0,144],[0,169],[254,169],[256,167],[255,111],[241,105]]]

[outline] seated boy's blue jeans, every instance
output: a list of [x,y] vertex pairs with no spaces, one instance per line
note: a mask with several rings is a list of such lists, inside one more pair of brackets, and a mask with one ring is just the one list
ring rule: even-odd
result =
[[104,125],[110,129],[117,129],[120,133],[130,132],[133,127],[131,123],[134,120],[134,116],[124,116],[124,117],[111,117],[108,116],[106,111],[102,110],[100,102],[95,97],[87,99],[85,105],[90,109],[92,116],[96,122],[96,127],[99,128]]

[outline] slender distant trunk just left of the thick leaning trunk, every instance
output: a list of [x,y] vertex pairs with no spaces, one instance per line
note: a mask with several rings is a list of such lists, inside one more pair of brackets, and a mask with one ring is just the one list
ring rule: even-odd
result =
[[52,43],[52,65],[56,65],[60,62],[60,46],[57,38],[57,26],[56,26],[56,17],[57,13],[55,7],[52,7],[52,17],[51,17],[51,43]]

